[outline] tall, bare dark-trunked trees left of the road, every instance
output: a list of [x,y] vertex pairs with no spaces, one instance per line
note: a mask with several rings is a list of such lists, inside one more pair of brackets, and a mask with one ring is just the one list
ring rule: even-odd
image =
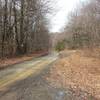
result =
[[0,0],[0,57],[48,50],[47,0]]

